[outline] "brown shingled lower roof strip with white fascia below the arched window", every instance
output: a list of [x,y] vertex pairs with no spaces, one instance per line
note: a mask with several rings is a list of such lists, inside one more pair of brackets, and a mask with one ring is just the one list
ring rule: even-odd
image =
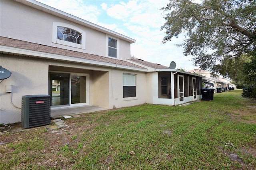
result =
[[[99,56],[99,55],[93,55],[93,54],[82,53],[82,52],[77,52],[77,51],[71,51],[71,50],[67,50],[67,49],[51,47],[51,46],[47,46],[47,45],[40,45],[37,43],[25,42],[22,40],[15,40],[15,39],[5,38],[5,37],[0,37],[0,47],[1,47],[0,51],[2,53],[18,53],[19,54],[20,52],[22,52],[24,50],[25,50],[24,53],[26,52],[26,50],[27,50],[27,52],[36,51],[36,52],[40,52],[40,53],[33,53],[31,55],[28,54],[28,56],[33,56],[33,57],[44,57],[45,56],[45,58],[64,59],[66,61],[72,61],[72,58],[74,57],[74,58],[76,58],[76,60],[73,60],[75,62],[81,61],[83,63],[86,63],[86,61],[90,60],[90,61],[110,63],[114,66],[115,65],[123,65],[123,66],[127,66],[127,67],[133,67],[136,69],[141,69],[141,71],[147,70],[146,68],[136,65],[134,63],[130,63],[130,62],[119,60],[119,59],[112,59],[109,57],[103,57],[103,56]],[[8,49],[10,49],[11,51]],[[14,51],[14,52],[12,52],[12,51]],[[46,55],[47,55],[47,57],[46,57]],[[58,55],[60,57],[56,58],[56,55]],[[83,61],[83,60],[86,60],[86,61]],[[99,63],[99,65],[103,65],[103,64]]]

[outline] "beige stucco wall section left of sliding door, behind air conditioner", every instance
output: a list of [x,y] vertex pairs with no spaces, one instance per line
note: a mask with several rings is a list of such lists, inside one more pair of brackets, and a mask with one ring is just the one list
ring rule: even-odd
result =
[[[48,95],[48,64],[42,59],[27,60],[20,56],[1,54],[0,65],[12,72],[0,83],[0,122],[21,121],[23,95]],[[12,93],[6,93],[6,85],[12,85]]]

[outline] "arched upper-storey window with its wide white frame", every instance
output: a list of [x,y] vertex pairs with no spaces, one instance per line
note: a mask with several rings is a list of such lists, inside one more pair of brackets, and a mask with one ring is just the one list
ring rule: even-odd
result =
[[52,42],[85,49],[85,32],[70,24],[53,22]]

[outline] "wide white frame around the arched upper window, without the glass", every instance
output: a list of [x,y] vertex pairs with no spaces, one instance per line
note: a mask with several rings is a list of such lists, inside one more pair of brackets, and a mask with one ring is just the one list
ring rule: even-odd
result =
[[[67,42],[64,40],[58,40],[58,38],[57,38],[57,27],[58,26],[71,28],[73,30],[80,32],[82,34],[82,44]],[[67,23],[63,23],[63,22],[53,22],[52,23],[52,42],[62,44],[62,45],[71,46],[71,47],[85,49],[85,32],[84,32],[84,30],[82,30],[76,26],[73,26],[71,24],[67,24]]]

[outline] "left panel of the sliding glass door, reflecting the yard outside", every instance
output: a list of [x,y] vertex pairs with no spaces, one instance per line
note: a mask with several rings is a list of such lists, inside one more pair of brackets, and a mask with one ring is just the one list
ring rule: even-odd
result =
[[51,105],[69,105],[69,74],[49,73]]

